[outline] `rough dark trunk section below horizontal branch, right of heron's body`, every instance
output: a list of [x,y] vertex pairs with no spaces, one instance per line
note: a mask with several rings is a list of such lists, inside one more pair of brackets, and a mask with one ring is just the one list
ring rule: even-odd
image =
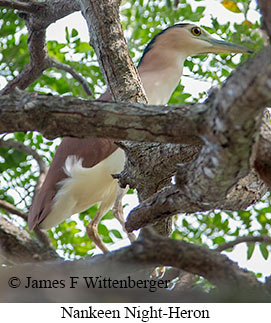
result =
[[[124,149],[127,161],[125,170],[114,176],[121,186],[129,182],[130,187],[140,191],[140,202],[171,183],[177,164],[192,161],[202,145],[174,144],[119,144]],[[144,166],[146,165],[146,166]]]

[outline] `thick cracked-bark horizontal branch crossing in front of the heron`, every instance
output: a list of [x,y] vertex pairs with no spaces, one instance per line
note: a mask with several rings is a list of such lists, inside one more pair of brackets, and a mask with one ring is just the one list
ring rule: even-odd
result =
[[199,144],[195,119],[208,107],[191,107],[87,101],[16,91],[0,97],[0,132],[38,130],[49,139],[69,135]]

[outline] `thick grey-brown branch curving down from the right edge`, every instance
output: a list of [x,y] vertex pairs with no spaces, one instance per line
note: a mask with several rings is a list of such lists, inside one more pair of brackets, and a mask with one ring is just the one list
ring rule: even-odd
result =
[[[179,169],[177,186],[191,201],[221,201],[254,164],[265,107],[271,103],[271,47],[231,74],[212,96],[211,111],[202,125],[205,145],[199,158]],[[262,61],[267,64],[262,68]],[[197,190],[194,190],[196,183]],[[193,188],[192,188],[193,187]]]

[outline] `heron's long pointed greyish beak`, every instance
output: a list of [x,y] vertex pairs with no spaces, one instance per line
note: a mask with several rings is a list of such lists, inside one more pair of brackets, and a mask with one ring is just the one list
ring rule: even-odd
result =
[[243,53],[243,54],[253,54],[253,50],[248,49],[244,46],[226,42],[224,40],[217,40],[215,38],[205,38],[206,42],[211,44],[209,47],[209,53]]

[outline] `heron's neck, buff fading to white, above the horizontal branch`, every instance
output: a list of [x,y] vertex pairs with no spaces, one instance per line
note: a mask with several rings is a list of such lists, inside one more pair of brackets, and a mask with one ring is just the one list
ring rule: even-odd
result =
[[183,72],[185,55],[151,49],[138,67],[149,104],[167,104]]

